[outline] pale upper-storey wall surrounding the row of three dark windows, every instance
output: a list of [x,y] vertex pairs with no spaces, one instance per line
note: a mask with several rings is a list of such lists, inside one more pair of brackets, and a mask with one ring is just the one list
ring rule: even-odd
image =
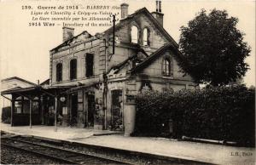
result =
[[[71,82],[81,81],[90,77],[85,76],[86,54],[94,54],[93,77],[99,77],[105,71],[105,42],[103,40],[93,40],[89,43],[80,43],[53,54],[52,58],[52,84],[73,84]],[[77,79],[70,80],[70,60],[77,60]],[[56,65],[62,64],[62,81],[56,82]]]

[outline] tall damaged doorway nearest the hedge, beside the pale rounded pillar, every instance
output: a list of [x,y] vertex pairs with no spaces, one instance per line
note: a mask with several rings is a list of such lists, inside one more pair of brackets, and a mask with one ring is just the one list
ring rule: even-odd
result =
[[112,130],[123,130],[123,94],[122,90],[112,91],[111,106],[111,128]]

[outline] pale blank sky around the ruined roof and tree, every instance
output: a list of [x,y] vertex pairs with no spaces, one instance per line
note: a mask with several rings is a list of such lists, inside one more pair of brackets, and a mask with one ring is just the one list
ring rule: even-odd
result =
[[[32,7],[59,4],[119,6],[124,2],[129,4],[129,14],[143,7],[146,7],[149,12],[155,11],[154,0],[0,0],[0,79],[21,77],[32,83],[37,83],[37,80],[42,83],[49,78],[49,50],[61,44],[62,41],[62,26],[29,27],[31,15],[22,10],[22,5],[32,5]],[[195,14],[201,9],[209,11],[214,8],[225,9],[230,16],[239,19],[237,28],[245,33],[244,41],[252,48],[251,55],[246,59],[250,70],[244,77],[244,83],[248,87],[255,85],[255,1],[162,0],[162,13],[165,14],[164,28],[178,43],[181,26],[187,26],[189,20],[194,19]],[[94,35],[107,28],[78,27],[75,28],[75,35],[85,30]]]

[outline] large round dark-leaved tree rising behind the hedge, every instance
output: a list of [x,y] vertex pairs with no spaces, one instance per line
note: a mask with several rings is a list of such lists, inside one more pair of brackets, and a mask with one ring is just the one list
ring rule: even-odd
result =
[[184,56],[183,70],[197,83],[214,86],[236,82],[249,69],[245,58],[251,52],[236,29],[238,19],[223,10],[205,9],[182,26],[179,48]]

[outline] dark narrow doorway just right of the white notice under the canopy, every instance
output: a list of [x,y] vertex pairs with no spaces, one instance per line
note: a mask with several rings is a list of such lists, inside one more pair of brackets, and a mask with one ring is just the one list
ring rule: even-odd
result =
[[78,94],[71,95],[71,126],[76,126],[78,123]]

